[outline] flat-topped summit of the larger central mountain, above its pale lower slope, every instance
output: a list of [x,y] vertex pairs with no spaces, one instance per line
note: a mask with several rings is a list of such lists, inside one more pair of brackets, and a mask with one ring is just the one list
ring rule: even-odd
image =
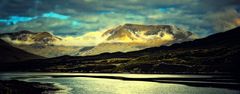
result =
[[141,25],[124,24],[106,31],[102,36],[107,36],[108,41],[123,42],[125,40],[162,39],[165,40],[189,40],[191,32],[174,25]]

